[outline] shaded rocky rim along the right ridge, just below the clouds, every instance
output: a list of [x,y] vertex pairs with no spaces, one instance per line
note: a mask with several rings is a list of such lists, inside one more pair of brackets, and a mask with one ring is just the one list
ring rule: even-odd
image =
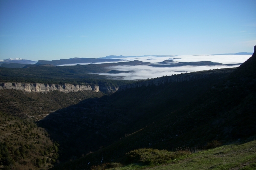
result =
[[192,80],[197,80],[197,79],[203,79],[203,78],[209,77],[210,75],[230,74],[234,70],[235,70],[235,68],[227,68],[227,69],[218,69],[218,70],[214,70],[214,71],[200,71],[200,72],[160,77],[160,78],[155,78],[155,79],[149,79],[146,81],[144,80],[144,81],[136,82],[133,84],[122,85],[122,86],[119,86],[119,90],[125,90],[128,88],[137,88],[137,87],[142,87],[142,86],[150,86],[150,85],[158,86],[158,85],[163,85],[165,83],[171,83],[171,82],[192,81]]

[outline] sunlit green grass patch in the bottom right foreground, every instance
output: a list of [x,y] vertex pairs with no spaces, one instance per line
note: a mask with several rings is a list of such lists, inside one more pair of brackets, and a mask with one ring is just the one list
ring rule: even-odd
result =
[[[154,159],[152,159],[154,160]],[[198,153],[170,159],[166,164],[133,163],[111,170],[254,170],[256,169],[256,140],[247,143],[223,145]]]

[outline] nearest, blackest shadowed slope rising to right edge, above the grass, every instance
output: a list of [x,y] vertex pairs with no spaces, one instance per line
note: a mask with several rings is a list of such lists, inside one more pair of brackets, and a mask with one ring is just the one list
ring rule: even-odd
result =
[[[256,47],[254,51],[256,51]],[[113,167],[133,163],[133,160],[127,159],[127,153],[139,148],[169,151],[178,147],[206,149],[207,143],[214,143],[213,141],[227,144],[254,136],[256,135],[255,73],[256,53],[226,80],[213,84],[201,98],[191,105],[177,111],[162,111],[165,116],[159,121],[147,125],[136,133],[95,153],[55,168],[104,169],[110,168],[111,162],[118,164]],[[163,113],[162,115],[164,115]],[[255,147],[251,147],[251,149],[253,152],[248,152],[246,156],[249,163],[245,160],[243,163],[248,163],[250,164],[248,166],[253,167],[254,164],[251,163],[255,163]],[[236,149],[231,150],[234,150],[235,153]],[[232,151],[230,153],[233,153]],[[240,153],[242,154],[242,149],[239,151]],[[211,161],[211,157],[208,158]],[[225,158],[227,156],[224,154],[223,159],[225,160]],[[235,162],[239,163],[239,161]],[[227,167],[216,168],[231,169],[236,164],[235,162],[230,163]],[[236,168],[239,169],[240,166],[241,164],[237,164]]]

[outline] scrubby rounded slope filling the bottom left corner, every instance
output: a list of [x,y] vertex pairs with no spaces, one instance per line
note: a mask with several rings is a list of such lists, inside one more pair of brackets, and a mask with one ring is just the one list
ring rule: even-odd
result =
[[58,146],[34,122],[0,112],[0,165],[5,170],[48,169],[58,160]]

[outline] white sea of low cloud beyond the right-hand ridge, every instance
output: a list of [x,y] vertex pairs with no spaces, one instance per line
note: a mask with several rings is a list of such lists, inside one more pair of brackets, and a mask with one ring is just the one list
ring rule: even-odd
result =
[[[134,79],[151,79],[156,77],[162,76],[171,76],[173,74],[180,74],[180,73],[189,73],[194,71],[203,71],[203,70],[212,70],[212,69],[219,69],[219,68],[233,68],[239,67],[239,63],[245,62],[250,55],[220,55],[220,56],[165,56],[165,57],[131,57],[125,58],[127,60],[140,60],[143,62],[162,62],[166,59],[173,59],[175,62],[197,62],[197,61],[212,61],[212,62],[220,62],[223,64],[238,64],[233,66],[227,65],[215,65],[215,66],[180,66],[180,67],[172,67],[172,68],[162,68],[162,67],[151,67],[148,65],[137,65],[137,66],[114,66],[110,67],[111,70],[118,70],[118,71],[131,71],[126,73],[119,73],[119,74],[109,74],[109,73],[102,73],[100,75],[109,76],[111,79],[125,79],[125,80],[134,80]],[[148,60],[152,59],[152,60]]]

